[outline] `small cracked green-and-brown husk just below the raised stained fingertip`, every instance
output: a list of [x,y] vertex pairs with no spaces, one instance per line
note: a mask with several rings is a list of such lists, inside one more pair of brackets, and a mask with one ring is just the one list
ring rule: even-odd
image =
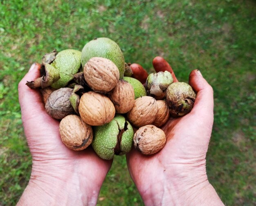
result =
[[148,96],[154,97],[156,100],[162,100],[165,97],[167,87],[171,83],[173,83],[171,73],[168,71],[159,71],[148,75],[145,88]]

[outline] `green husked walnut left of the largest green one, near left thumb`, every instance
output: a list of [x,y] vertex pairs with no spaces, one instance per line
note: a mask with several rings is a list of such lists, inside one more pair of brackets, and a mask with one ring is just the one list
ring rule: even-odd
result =
[[54,89],[65,87],[74,78],[81,67],[81,51],[66,49],[56,55],[56,59],[51,64],[60,75],[60,78],[51,86]]

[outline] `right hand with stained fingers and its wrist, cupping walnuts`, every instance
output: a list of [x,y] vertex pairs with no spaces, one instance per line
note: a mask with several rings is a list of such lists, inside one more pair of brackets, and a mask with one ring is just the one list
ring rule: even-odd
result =
[[[153,66],[169,71],[171,66],[156,57]],[[197,93],[193,109],[170,118],[162,127],[166,145],[158,153],[142,155],[133,148],[126,155],[130,175],[145,205],[223,205],[206,174],[206,153],[213,126],[213,89],[198,70],[189,76]]]

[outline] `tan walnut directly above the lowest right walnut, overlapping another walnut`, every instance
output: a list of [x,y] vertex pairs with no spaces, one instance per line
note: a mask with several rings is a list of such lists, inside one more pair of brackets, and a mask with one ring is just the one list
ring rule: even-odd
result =
[[127,117],[133,126],[140,127],[152,124],[156,114],[157,103],[155,98],[143,96],[135,100],[132,109],[127,113]]

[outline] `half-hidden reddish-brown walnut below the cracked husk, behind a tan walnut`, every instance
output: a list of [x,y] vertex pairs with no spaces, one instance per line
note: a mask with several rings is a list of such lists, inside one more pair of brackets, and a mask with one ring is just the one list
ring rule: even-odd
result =
[[170,117],[169,107],[164,100],[157,100],[157,115],[153,124],[157,127],[163,126]]

